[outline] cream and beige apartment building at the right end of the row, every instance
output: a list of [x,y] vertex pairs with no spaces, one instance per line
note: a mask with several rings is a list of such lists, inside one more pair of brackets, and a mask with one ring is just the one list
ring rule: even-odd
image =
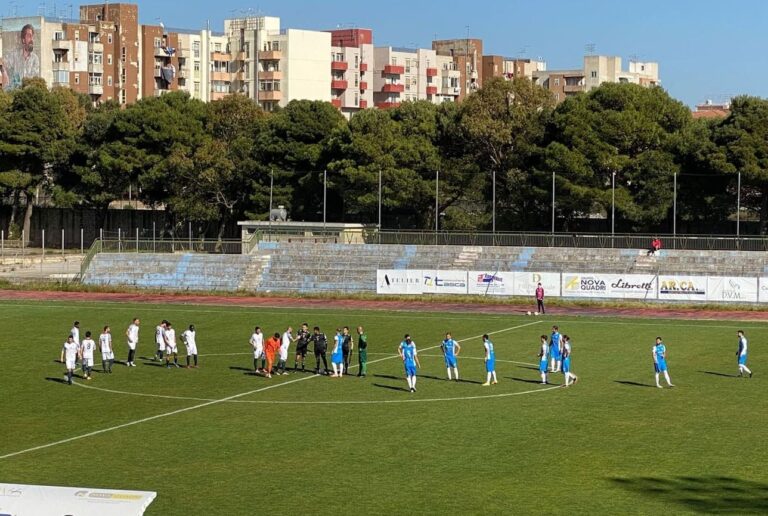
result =
[[658,63],[631,61],[629,69],[623,70],[621,58],[616,56],[584,56],[581,69],[536,71],[533,80],[552,92],[557,102],[605,83],[632,83],[645,87],[661,84]]

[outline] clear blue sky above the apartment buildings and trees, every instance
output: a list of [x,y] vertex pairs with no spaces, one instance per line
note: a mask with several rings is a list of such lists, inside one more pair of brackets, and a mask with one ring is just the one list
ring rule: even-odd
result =
[[[73,0],[0,0],[33,14]],[[88,2],[82,2],[88,3]],[[95,2],[94,2],[95,3]],[[482,38],[486,54],[541,56],[550,69],[580,66],[587,44],[600,54],[658,61],[664,87],[688,105],[736,94],[768,96],[766,0],[139,0],[143,23],[200,28],[251,8],[282,26],[374,30],[374,43],[429,47],[435,36]],[[182,7],[183,5],[183,7]],[[77,12],[75,8],[75,13]]]

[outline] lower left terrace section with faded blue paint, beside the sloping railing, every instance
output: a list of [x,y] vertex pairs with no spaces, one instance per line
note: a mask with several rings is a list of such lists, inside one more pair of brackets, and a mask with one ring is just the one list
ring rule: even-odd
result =
[[83,283],[173,290],[238,290],[252,257],[207,254],[100,253]]

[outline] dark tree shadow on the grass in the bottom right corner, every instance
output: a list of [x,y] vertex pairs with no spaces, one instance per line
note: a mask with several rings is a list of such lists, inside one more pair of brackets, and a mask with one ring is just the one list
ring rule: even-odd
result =
[[[611,481],[634,493],[701,513],[768,512],[768,484],[734,477],[638,477]],[[672,511],[674,512],[674,511]]]

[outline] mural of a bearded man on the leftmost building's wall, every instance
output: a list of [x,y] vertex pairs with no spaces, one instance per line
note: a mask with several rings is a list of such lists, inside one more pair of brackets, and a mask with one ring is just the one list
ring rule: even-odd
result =
[[40,77],[39,18],[16,18],[3,24],[3,87],[21,86],[21,81]]

